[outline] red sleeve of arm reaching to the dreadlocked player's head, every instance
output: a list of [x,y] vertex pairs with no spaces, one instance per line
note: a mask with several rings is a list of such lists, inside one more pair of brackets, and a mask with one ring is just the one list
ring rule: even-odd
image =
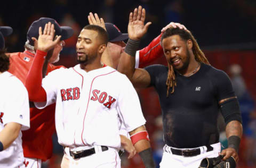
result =
[[161,35],[157,36],[151,43],[139,51],[139,68],[149,65],[151,62],[164,55],[162,46],[160,45]]

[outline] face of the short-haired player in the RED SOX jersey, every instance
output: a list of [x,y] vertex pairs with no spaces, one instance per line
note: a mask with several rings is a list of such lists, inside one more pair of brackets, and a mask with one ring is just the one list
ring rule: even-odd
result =
[[97,40],[98,32],[83,29],[78,36],[76,43],[77,61],[79,63],[89,63],[98,55],[100,40]]

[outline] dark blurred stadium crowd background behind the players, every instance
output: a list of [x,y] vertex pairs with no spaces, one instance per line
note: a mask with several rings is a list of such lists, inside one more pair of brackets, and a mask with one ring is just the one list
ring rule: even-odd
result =
[[[80,30],[88,24],[89,12],[98,13],[127,32],[129,13],[138,5],[146,9],[146,21],[153,24],[142,39],[141,48],[161,33],[170,22],[184,24],[195,36],[211,65],[228,73],[239,99],[244,135],[239,149],[238,168],[256,167],[256,1],[255,0],[44,0],[1,1],[0,26],[11,26],[12,36],[6,38],[8,52],[23,52],[30,24],[41,18],[57,20],[61,26],[74,29],[66,40],[57,64],[76,64],[75,45]],[[165,57],[154,63],[166,64]],[[117,81],[118,82],[118,81]],[[151,139],[154,158],[158,164],[163,153],[161,107],[153,88],[138,90],[146,127]],[[227,146],[225,123],[220,115],[219,129],[222,147]],[[97,133],[97,132],[95,132]],[[60,167],[62,147],[54,140],[54,155],[43,167]],[[143,167],[138,155],[122,156],[122,167]],[[171,167],[171,165],[170,165]]]

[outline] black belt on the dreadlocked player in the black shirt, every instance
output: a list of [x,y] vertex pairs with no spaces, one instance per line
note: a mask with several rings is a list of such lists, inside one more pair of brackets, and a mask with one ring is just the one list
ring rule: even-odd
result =
[[[206,146],[207,150],[206,152],[210,152],[213,150],[212,146]],[[174,149],[171,147],[171,151],[173,155],[180,155],[180,156],[184,156],[184,157],[191,157],[191,156],[196,156],[196,155],[200,155],[201,154],[201,150],[200,148],[196,148],[196,149]]]

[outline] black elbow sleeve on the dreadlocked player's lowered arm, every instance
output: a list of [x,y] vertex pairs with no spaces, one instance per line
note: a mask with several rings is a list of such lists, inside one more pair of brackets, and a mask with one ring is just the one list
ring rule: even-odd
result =
[[226,124],[236,120],[242,123],[241,111],[237,98],[231,98],[220,104],[221,114],[223,115]]

